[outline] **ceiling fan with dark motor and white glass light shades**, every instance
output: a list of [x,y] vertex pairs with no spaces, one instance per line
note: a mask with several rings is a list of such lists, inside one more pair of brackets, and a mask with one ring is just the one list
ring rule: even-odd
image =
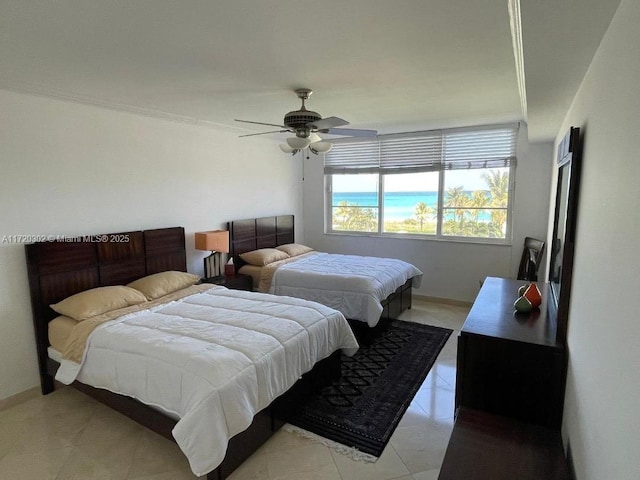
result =
[[305,108],[305,100],[308,100],[313,90],[309,88],[299,88],[294,90],[300,100],[302,100],[302,106],[299,110],[293,110],[284,116],[284,125],[278,125],[275,123],[254,122],[252,120],[238,120],[236,122],[252,123],[255,125],[268,125],[271,127],[278,127],[280,130],[272,130],[269,132],[261,133],[249,133],[247,135],[240,135],[241,137],[252,137],[255,135],[266,135],[269,133],[294,133],[295,137],[287,139],[287,143],[280,145],[280,149],[285,153],[296,154],[299,150],[303,150],[309,147],[311,152],[325,153],[331,150],[332,144],[329,142],[323,142],[318,133],[327,133],[329,135],[346,135],[350,137],[368,137],[376,136],[378,132],[376,130],[359,130],[353,128],[336,128],[344,125],[349,125],[349,122],[338,117],[322,118],[318,112],[313,112]]

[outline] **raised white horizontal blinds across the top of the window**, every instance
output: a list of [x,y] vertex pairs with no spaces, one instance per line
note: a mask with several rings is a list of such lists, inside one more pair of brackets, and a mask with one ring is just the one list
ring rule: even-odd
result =
[[326,174],[403,173],[516,165],[518,125],[379,135],[335,143],[325,155]]

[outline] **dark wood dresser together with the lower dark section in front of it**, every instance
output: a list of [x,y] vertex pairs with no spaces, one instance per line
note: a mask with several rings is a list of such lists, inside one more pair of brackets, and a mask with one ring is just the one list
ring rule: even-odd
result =
[[487,278],[458,336],[456,420],[439,480],[568,480],[566,352],[547,317],[514,314],[525,281]]

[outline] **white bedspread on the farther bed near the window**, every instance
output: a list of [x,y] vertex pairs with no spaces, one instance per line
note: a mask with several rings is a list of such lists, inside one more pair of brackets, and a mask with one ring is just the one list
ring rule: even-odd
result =
[[381,302],[410,278],[418,288],[422,272],[402,260],[318,253],[279,266],[270,293],[319,302],[373,327]]

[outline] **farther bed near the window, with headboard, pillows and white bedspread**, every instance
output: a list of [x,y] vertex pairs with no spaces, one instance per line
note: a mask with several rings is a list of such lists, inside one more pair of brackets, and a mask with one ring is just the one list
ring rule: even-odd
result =
[[[341,311],[354,327],[375,327],[411,308],[422,272],[397,259],[311,251],[296,244],[293,215],[228,223],[238,273],[259,291],[317,301]],[[259,255],[258,255],[259,254]]]

